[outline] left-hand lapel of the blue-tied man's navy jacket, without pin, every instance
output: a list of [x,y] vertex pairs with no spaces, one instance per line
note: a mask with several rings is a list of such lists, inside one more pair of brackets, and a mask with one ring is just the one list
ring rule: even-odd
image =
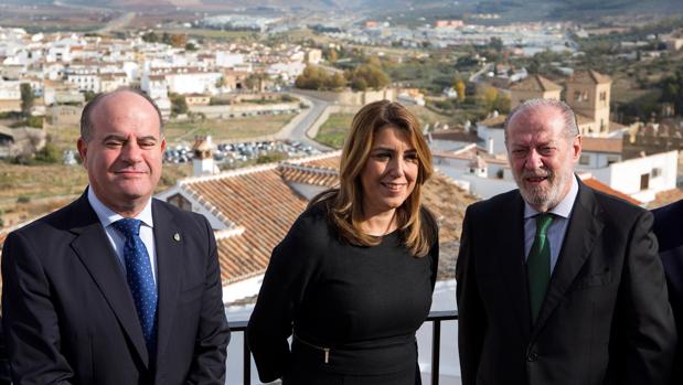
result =
[[140,360],[148,366],[142,329],[118,258],[85,194],[76,201],[75,208],[74,217],[85,218],[86,224],[72,228],[77,235],[72,247],[130,338]]

